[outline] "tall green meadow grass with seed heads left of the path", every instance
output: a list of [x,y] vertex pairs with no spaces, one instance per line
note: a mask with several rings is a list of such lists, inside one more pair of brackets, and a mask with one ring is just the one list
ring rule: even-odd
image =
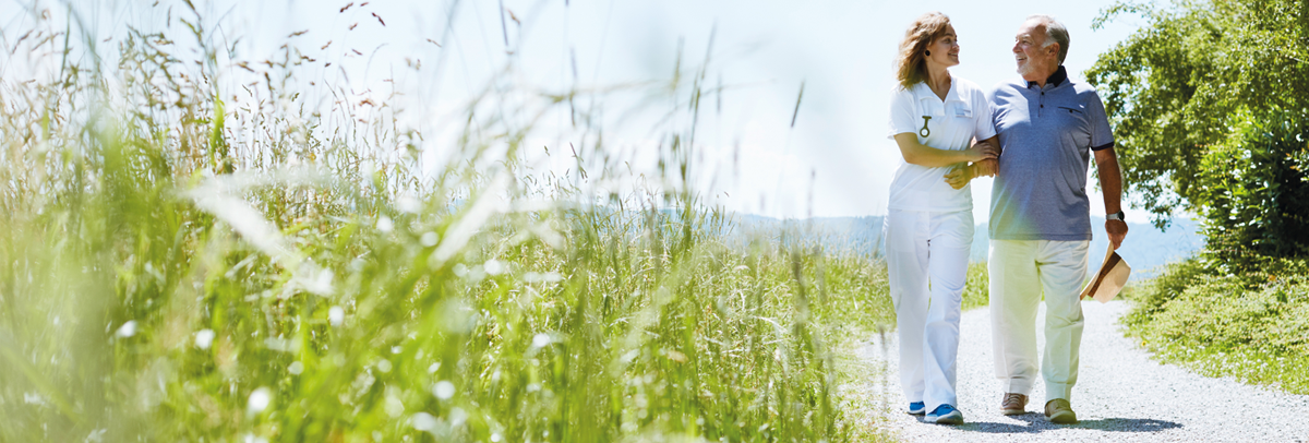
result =
[[880,263],[728,240],[685,185],[698,98],[679,185],[596,203],[524,166],[530,119],[471,123],[497,93],[423,174],[421,134],[315,110],[291,51],[247,89],[289,105],[225,102],[192,30],[196,59],[132,31],[115,67],[0,79],[0,440],[876,436],[834,346],[891,322]]

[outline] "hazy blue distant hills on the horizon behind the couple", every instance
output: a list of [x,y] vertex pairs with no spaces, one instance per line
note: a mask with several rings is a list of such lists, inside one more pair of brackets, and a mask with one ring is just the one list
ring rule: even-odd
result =
[[[813,219],[787,219],[779,220],[759,215],[736,215],[737,233],[768,233],[788,232],[788,241],[817,241],[827,250],[853,250],[859,253],[872,253],[881,256],[882,216],[859,218],[813,218]],[[1089,261],[1094,267],[1103,258],[1109,240],[1105,237],[1105,219],[1092,218],[1093,235],[1090,241]],[[1191,219],[1175,218],[1168,231],[1156,229],[1148,223],[1128,223],[1127,240],[1118,254],[1132,266],[1132,275],[1148,278],[1157,273],[1157,267],[1181,261],[1191,253],[1204,246],[1204,237],[1199,233],[1199,223]],[[774,239],[781,241],[783,239]],[[987,224],[977,225],[973,236],[973,261],[984,262],[990,240],[987,239]]]

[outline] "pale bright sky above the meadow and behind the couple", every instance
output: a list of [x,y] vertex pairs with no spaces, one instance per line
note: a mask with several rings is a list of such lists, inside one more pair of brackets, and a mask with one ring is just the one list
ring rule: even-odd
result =
[[[126,33],[123,24],[177,31],[179,18],[188,16],[181,1],[169,0],[71,4],[88,24],[88,33],[110,42],[106,47]],[[674,67],[691,75],[704,64],[707,81],[711,87],[721,83],[724,90],[713,97],[712,111],[700,115],[692,147],[700,166],[695,189],[707,204],[775,218],[886,212],[888,189],[901,163],[898,148],[886,138],[891,63],[915,17],[932,10],[950,17],[962,47],[961,64],[950,69],[952,75],[983,88],[1017,76],[1013,35],[1030,14],[1051,14],[1069,29],[1064,66],[1075,80],[1100,52],[1144,22],[1124,16],[1092,30],[1092,21],[1113,4],[1098,0],[195,4],[212,30],[211,38],[236,48],[241,58],[274,58],[284,51],[281,45],[291,43],[318,60],[317,67],[306,68],[305,81],[344,83],[359,96],[401,93],[395,100],[404,109],[402,123],[435,134],[424,138],[423,145],[432,168],[448,155],[465,106],[483,90],[565,92],[658,84],[673,76]],[[351,7],[342,10],[347,4]],[[34,21],[42,8],[55,16],[64,9],[63,3],[35,5],[14,0],[0,4],[0,25],[18,29]],[[305,33],[289,37],[297,31]],[[0,42],[12,46],[14,39],[5,34]],[[326,60],[336,63],[321,66]],[[415,68],[414,62],[421,64]],[[226,72],[236,69],[229,67]],[[801,84],[804,97],[796,111]],[[580,105],[601,115],[605,149],[610,151],[603,155],[630,159],[624,166],[635,168],[636,174],[652,173],[652,163],[641,160],[652,159],[660,145],[658,131],[652,130],[664,127],[657,121],[660,110],[686,98],[666,97],[656,101],[654,110],[622,111],[639,97],[613,94]],[[511,114],[504,118],[530,119],[522,113]],[[568,143],[583,144],[586,139],[569,130],[567,109],[556,106],[541,115],[526,145],[539,144],[558,153]],[[531,160],[560,174],[575,166],[564,156],[537,151]],[[1094,181],[1090,183],[1092,214],[1103,215],[1102,199]],[[978,222],[987,219],[990,191],[990,178],[973,182]],[[1147,219],[1141,210],[1126,211],[1128,220]]]

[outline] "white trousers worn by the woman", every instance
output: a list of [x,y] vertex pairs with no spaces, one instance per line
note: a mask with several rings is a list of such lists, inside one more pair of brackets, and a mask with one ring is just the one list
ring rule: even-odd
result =
[[973,211],[890,210],[885,239],[905,397],[928,412],[958,406],[954,372]]

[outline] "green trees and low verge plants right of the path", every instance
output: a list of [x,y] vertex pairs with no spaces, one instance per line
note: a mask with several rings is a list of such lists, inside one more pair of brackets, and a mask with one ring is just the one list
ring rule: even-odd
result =
[[1147,22],[1101,55],[1130,190],[1206,246],[1135,291],[1130,333],[1166,362],[1309,393],[1309,3],[1119,3]]

